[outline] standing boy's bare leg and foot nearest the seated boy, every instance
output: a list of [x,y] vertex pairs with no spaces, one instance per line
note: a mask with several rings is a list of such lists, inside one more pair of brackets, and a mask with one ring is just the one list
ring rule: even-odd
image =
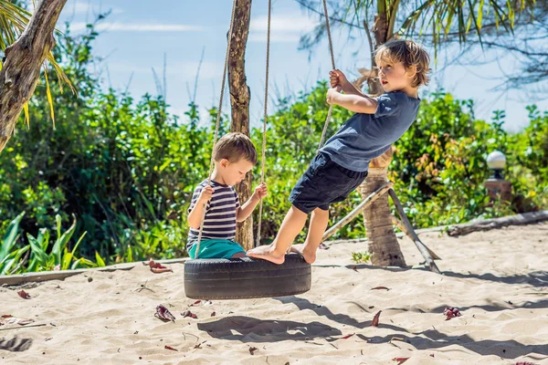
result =
[[261,245],[248,251],[249,257],[262,258],[274,264],[283,264],[285,253],[293,240],[302,231],[308,214],[301,212],[291,205],[283,223],[279,227],[278,235],[270,245]]

